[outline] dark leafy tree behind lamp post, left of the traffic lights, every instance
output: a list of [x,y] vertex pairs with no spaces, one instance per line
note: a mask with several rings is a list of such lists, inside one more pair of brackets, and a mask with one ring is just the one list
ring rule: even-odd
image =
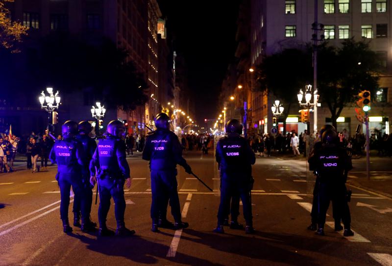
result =
[[257,68],[259,89],[272,93],[284,105],[283,133],[292,105],[297,106],[297,93],[312,80],[312,57],[306,50],[286,49],[264,58]]

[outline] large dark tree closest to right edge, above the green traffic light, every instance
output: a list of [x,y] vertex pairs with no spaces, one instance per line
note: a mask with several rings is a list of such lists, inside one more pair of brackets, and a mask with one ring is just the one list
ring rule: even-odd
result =
[[374,93],[378,88],[380,64],[365,41],[347,39],[339,48],[323,44],[318,70],[320,101],[328,106],[335,128],[344,106],[354,103],[361,90]]

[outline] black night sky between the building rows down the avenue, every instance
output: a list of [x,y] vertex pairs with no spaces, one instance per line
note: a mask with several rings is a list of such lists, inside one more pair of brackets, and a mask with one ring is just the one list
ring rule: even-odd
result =
[[196,120],[215,118],[228,63],[236,50],[239,0],[158,0],[175,36],[177,53],[185,56],[189,87],[195,94]]

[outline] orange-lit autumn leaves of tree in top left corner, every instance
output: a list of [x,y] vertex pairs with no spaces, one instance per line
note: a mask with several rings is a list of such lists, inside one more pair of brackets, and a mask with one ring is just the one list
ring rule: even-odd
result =
[[4,3],[13,1],[0,0],[0,45],[10,49],[12,53],[18,53],[20,50],[16,48],[16,43],[22,41],[22,37],[26,35],[28,27],[23,26],[19,22],[11,21],[10,12],[4,6]]

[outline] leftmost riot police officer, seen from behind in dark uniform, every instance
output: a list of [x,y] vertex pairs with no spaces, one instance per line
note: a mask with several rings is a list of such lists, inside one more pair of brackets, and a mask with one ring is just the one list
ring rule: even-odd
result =
[[72,227],[68,221],[68,207],[70,205],[70,189],[72,186],[73,193],[80,199],[80,211],[82,218],[82,231],[90,231],[91,222],[87,210],[86,197],[83,194],[82,184],[82,166],[85,165],[86,157],[84,155],[83,145],[76,140],[77,123],[67,121],[61,127],[63,139],[56,140],[49,158],[52,163],[57,163],[58,173],[56,179],[60,186],[61,203],[60,216],[63,221],[64,233],[70,233]]

